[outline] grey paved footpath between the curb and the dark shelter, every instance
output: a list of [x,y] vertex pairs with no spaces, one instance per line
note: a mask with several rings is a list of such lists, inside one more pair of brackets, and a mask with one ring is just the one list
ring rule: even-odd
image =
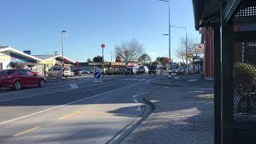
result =
[[122,143],[213,144],[213,82],[193,75],[154,84],[159,91],[145,97],[154,104],[153,113]]

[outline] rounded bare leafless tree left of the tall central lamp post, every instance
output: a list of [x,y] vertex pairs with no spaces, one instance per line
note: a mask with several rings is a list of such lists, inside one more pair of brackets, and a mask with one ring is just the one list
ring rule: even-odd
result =
[[[130,42],[123,42],[121,46],[115,46],[115,54],[122,59],[122,62],[130,62],[137,60],[142,54],[142,44],[136,39],[132,39]],[[127,51],[127,55],[125,52]]]

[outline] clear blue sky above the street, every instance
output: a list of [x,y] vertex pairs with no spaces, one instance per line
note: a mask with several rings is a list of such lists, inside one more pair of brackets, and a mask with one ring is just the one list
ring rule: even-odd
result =
[[[136,38],[154,59],[168,55],[168,5],[158,0],[1,0],[0,45],[32,54],[61,52],[61,31],[65,55],[79,62],[101,55],[110,61],[114,46]],[[194,30],[192,0],[171,0],[171,24],[186,26],[190,38],[200,39]],[[171,30],[172,57],[185,30]],[[114,56],[113,56],[114,57]],[[114,59],[114,58],[113,58]],[[176,58],[177,59],[177,58]]]

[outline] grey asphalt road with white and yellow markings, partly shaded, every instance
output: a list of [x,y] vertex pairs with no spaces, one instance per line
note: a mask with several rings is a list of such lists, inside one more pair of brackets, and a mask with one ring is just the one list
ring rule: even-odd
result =
[[82,78],[0,92],[0,143],[107,143],[145,110],[154,78]]

